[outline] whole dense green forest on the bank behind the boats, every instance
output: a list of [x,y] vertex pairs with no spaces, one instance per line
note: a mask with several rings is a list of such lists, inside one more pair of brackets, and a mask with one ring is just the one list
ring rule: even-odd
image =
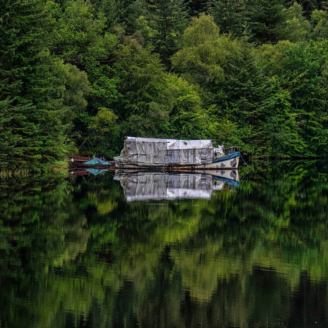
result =
[[212,138],[328,154],[328,3],[0,0],[0,171]]

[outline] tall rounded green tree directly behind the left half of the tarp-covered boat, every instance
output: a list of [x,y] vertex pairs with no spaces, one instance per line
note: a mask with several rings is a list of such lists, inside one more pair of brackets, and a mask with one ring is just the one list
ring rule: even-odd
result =
[[165,71],[158,54],[129,42],[117,57],[119,91],[125,96],[116,104],[125,135],[163,135],[168,118]]

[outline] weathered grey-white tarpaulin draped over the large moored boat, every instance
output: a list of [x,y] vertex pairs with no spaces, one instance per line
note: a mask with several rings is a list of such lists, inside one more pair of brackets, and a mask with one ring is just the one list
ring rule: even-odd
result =
[[133,165],[208,164],[213,160],[211,140],[126,137],[116,163]]

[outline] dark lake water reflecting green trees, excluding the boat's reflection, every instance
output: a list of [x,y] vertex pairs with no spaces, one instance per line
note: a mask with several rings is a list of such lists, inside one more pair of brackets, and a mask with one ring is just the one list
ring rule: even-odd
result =
[[0,327],[328,327],[326,165],[171,200],[108,172],[2,181]]

